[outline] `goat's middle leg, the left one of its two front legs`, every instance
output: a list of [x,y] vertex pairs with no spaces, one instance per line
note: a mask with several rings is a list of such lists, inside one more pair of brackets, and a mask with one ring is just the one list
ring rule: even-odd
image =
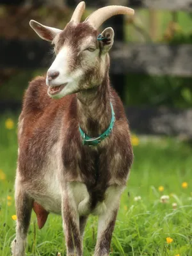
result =
[[83,232],[82,234],[80,232],[79,213],[70,186],[62,192],[62,218],[67,256],[82,256],[83,244],[81,236]]

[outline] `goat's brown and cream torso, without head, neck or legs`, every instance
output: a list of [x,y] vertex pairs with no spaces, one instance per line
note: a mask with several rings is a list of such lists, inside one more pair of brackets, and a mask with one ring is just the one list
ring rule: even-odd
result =
[[[45,97],[44,90],[45,78],[38,77],[26,92],[19,118],[17,179],[22,182],[26,193],[46,211],[61,213],[61,189],[65,189],[67,182],[74,190],[80,215],[91,212],[100,214],[106,209],[106,189],[109,186],[125,186],[132,162],[129,145],[125,144],[127,148],[111,147],[115,145],[113,140],[124,143],[129,140],[129,130],[124,129],[127,120],[118,95],[110,89],[116,124],[122,123],[120,128],[115,124],[115,134],[111,134],[110,140],[103,141],[100,148],[83,148],[78,129],[76,95],[51,100],[48,95]],[[115,131],[117,127],[119,131]],[[110,159],[106,154],[109,148]]]

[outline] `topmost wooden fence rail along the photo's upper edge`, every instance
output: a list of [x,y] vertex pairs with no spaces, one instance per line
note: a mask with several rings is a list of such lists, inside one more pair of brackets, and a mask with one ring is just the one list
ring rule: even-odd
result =
[[[74,8],[77,3],[79,3],[80,0],[67,0],[68,6],[71,6]],[[58,6],[58,2],[56,1],[42,1],[42,0],[0,0],[0,4],[7,4],[7,5],[22,5],[22,4],[34,4],[38,5],[42,4]],[[62,3],[62,1],[61,1]],[[118,0],[118,1],[111,1],[111,0],[86,0],[86,6],[89,8],[99,8],[101,6],[106,6],[109,4],[119,4],[124,6],[130,6],[133,8],[152,8],[152,9],[163,9],[163,10],[185,10],[185,11],[192,11],[192,1],[191,0]],[[63,6],[65,4],[65,0],[63,0]]]

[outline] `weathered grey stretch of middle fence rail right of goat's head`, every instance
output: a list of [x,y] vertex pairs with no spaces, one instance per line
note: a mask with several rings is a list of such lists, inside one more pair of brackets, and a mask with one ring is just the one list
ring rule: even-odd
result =
[[114,74],[192,76],[192,45],[123,44],[116,42],[111,52]]

